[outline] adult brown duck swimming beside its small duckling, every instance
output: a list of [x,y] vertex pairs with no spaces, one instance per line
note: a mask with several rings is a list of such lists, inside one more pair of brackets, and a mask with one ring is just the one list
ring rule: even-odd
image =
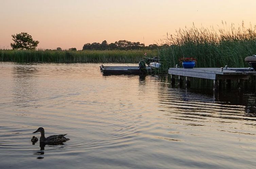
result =
[[41,133],[40,143],[44,143],[44,144],[63,143],[63,142],[66,142],[66,141],[70,140],[69,138],[64,137],[67,134],[52,135],[52,136],[49,136],[49,137],[45,138],[44,129],[42,127],[39,127],[33,133],[37,133],[37,132]]

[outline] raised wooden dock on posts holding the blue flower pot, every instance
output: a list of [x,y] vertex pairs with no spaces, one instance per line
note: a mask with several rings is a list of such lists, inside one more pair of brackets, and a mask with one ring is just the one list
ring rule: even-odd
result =
[[250,77],[255,77],[256,72],[253,68],[169,68],[168,74],[171,75],[172,82],[175,82],[175,75],[179,80],[181,76],[185,77],[185,86],[187,86],[188,77],[196,77],[213,80],[213,90],[219,88],[220,80],[231,83],[231,80],[237,80],[240,88],[241,82]]

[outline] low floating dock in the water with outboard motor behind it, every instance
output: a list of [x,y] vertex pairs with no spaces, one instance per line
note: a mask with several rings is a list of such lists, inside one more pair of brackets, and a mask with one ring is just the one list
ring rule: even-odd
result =
[[140,69],[138,66],[100,66],[103,75],[140,75],[156,73],[158,70],[147,66],[146,69]]

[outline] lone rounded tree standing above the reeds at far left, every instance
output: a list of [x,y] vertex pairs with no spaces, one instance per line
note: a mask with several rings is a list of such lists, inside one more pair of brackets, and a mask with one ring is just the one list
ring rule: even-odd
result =
[[13,49],[36,49],[39,41],[33,40],[32,36],[26,32],[12,35],[14,43],[11,43]]

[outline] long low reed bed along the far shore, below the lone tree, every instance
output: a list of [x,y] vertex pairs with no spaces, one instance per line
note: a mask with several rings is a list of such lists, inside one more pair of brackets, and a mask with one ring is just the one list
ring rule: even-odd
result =
[[144,53],[147,57],[155,57],[158,50],[0,50],[0,61],[15,62],[94,62],[94,63],[139,63]]

